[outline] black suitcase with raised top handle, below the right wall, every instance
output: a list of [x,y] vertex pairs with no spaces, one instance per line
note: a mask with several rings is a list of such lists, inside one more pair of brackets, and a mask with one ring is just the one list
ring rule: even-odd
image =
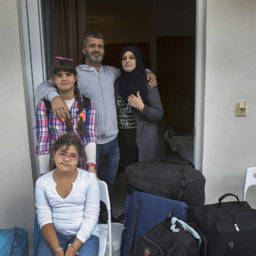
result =
[[[237,201],[221,202],[227,196]],[[256,210],[233,194],[219,203],[189,206],[188,221],[197,223],[202,256],[256,256]]]

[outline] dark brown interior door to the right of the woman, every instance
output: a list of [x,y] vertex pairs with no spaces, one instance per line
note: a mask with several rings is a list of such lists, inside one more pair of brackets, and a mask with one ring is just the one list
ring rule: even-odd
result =
[[163,121],[178,133],[193,134],[195,37],[158,36],[157,74]]

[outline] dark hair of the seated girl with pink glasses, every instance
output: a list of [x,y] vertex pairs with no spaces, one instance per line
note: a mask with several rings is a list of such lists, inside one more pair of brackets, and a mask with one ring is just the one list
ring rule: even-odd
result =
[[[70,146],[74,146],[77,150],[79,158],[81,158],[84,155],[84,149],[83,145],[81,143],[81,140],[78,136],[73,134],[65,134],[58,138],[57,141],[54,142],[54,144],[51,147],[52,153],[59,150],[59,148],[62,148],[63,150],[68,150]],[[79,161],[78,161],[78,167],[79,167]],[[56,168],[55,163],[53,163],[53,168]]]

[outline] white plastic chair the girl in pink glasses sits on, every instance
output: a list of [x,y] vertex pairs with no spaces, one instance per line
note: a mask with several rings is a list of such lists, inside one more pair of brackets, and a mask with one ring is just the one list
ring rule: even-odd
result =
[[109,198],[109,190],[106,183],[102,180],[98,181],[100,190],[100,200],[105,203],[106,209],[108,210],[108,223],[98,224],[99,226],[99,256],[104,256],[106,250],[106,239],[109,237],[109,256],[112,256],[112,234],[111,234],[111,206]]

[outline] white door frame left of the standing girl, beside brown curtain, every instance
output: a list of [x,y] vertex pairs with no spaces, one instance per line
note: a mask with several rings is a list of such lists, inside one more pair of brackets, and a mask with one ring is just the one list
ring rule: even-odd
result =
[[[25,51],[25,65],[27,76],[27,90],[29,102],[26,107],[30,113],[29,145],[31,153],[31,164],[33,181],[40,176],[38,158],[36,152],[36,129],[35,111],[39,99],[36,97],[35,89],[46,79],[44,38],[42,36],[41,1],[21,0],[22,26]],[[36,11],[37,10],[37,11]]]

